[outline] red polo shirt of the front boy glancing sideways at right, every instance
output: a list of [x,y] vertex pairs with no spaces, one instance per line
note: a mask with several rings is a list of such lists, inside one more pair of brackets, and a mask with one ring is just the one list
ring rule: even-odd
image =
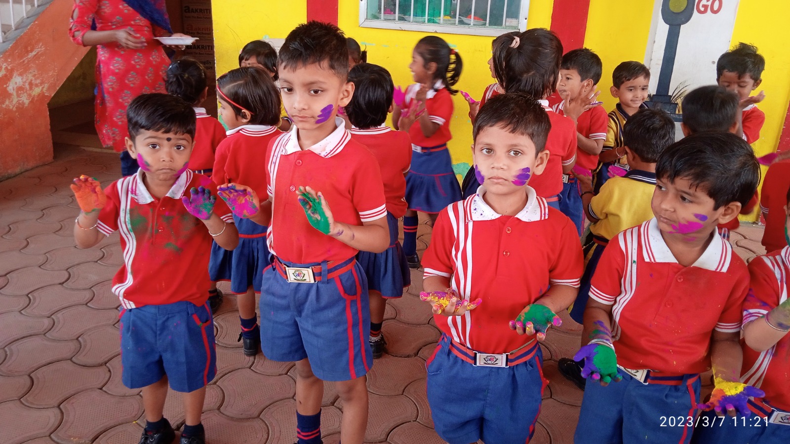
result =
[[710,368],[713,329],[740,331],[749,272],[730,243],[713,235],[702,256],[680,265],[655,219],[611,239],[590,297],[612,306],[617,363],[668,374]]

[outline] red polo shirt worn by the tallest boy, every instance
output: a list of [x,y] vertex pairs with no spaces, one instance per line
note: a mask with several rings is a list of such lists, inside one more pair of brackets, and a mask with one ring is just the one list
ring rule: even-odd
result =
[[296,126],[272,141],[266,180],[272,199],[269,251],[300,264],[344,261],[358,250],[316,230],[297,200],[299,186],[321,191],[335,220],[362,225],[386,217],[384,185],[371,152],[352,141],[343,119],[336,130],[309,149],[299,147]]

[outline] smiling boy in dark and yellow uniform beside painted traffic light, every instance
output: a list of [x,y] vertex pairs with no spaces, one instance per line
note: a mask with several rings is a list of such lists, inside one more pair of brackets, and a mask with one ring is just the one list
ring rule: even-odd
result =
[[650,94],[650,70],[640,62],[620,63],[611,73],[611,85],[611,96],[620,101],[609,112],[606,141],[598,156],[598,170],[593,176],[596,193],[609,179],[611,165],[628,169],[626,153],[621,149],[624,145],[623,125],[630,116],[647,107],[645,100]]

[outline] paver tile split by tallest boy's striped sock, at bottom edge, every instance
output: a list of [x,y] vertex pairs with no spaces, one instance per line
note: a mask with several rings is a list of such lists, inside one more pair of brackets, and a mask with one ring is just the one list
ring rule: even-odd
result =
[[[322,408],[321,435],[340,431],[340,417],[336,407]],[[261,419],[269,427],[269,442],[292,444],[296,441],[296,401],[286,399],[270,405],[261,413]]]

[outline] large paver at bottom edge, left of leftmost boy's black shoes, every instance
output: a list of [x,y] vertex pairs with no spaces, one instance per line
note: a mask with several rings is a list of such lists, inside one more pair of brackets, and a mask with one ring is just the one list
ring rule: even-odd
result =
[[137,420],[143,411],[140,397],[115,397],[99,389],[77,393],[60,408],[63,422],[52,438],[62,444],[93,442],[104,431]]

